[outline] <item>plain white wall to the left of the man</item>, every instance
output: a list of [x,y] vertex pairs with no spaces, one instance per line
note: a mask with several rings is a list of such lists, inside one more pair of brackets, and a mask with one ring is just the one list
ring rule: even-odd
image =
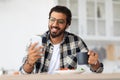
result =
[[31,35],[48,29],[50,0],[0,0],[0,68],[19,69]]

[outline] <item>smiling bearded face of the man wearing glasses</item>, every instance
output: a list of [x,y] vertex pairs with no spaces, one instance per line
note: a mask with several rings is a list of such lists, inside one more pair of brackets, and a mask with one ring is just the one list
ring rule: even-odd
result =
[[59,12],[52,12],[48,27],[52,38],[61,36],[67,28],[66,15]]

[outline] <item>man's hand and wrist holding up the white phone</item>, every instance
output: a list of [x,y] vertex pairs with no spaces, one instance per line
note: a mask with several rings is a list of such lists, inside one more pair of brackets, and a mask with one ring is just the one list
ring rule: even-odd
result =
[[40,54],[44,54],[44,51],[40,51],[43,46],[36,47],[37,44],[38,43],[31,44],[28,49],[28,57],[26,63],[23,66],[24,71],[27,73],[31,73],[33,71],[35,62],[42,57]]

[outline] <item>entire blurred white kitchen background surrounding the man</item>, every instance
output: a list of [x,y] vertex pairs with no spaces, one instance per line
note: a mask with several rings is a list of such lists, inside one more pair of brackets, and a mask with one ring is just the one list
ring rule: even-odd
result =
[[120,73],[120,0],[0,0],[0,74],[19,70],[29,37],[48,30],[57,4],[70,8],[68,31],[98,52],[104,73]]

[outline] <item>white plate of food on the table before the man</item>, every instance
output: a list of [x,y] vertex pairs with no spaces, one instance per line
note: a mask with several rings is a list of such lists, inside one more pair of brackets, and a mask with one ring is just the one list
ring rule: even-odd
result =
[[58,70],[55,71],[55,74],[80,74],[83,73],[85,70]]

